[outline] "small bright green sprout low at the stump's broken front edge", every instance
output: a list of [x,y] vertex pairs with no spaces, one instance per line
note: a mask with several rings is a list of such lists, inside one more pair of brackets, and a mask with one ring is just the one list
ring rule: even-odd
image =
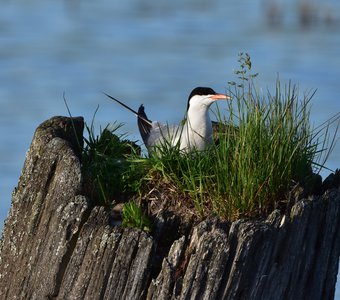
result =
[[123,227],[139,228],[144,231],[151,231],[152,223],[142,209],[134,201],[123,205]]

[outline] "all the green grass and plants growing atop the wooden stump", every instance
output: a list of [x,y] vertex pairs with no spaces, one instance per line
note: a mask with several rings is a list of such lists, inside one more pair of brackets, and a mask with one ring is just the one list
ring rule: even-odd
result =
[[[83,168],[88,194],[110,206],[122,195],[122,201],[147,197],[150,189],[163,185],[163,193],[183,199],[184,206],[193,203],[199,215],[213,213],[226,220],[280,207],[293,185],[324,167],[335,143],[329,125],[339,122],[339,114],[312,128],[314,93],[301,97],[295,85],[279,80],[274,93],[260,93],[250,57],[241,54],[239,63],[236,82],[228,83],[232,101],[216,113],[219,143],[206,151],[183,153],[165,144],[146,158],[116,134],[119,125],[106,127],[99,136],[93,125],[87,127]],[[169,185],[175,189],[166,191]],[[123,222],[145,227],[137,208],[126,205]]]

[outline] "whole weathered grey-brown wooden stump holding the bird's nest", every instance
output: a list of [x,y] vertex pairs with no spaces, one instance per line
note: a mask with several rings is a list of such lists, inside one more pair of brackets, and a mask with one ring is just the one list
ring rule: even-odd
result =
[[150,235],[113,226],[83,196],[82,130],[81,118],[56,117],[34,135],[4,226],[0,299],[334,297],[339,173],[285,215],[176,232],[178,217],[160,213]]

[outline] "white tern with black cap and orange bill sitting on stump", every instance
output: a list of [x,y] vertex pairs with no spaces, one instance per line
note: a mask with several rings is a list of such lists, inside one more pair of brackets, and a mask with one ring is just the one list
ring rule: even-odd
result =
[[228,100],[230,96],[216,93],[209,87],[197,87],[188,98],[186,119],[180,125],[161,124],[150,121],[142,104],[138,112],[126,104],[104,93],[137,116],[139,132],[145,146],[150,150],[166,145],[178,146],[181,151],[202,151],[213,142],[213,125],[209,117],[209,108],[217,100]]

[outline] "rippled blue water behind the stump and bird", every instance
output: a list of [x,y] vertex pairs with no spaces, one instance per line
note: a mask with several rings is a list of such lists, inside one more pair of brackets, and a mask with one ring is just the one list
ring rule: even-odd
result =
[[[293,0],[154,2],[1,4],[0,229],[35,128],[51,116],[67,115],[64,92],[73,115],[89,122],[99,104],[96,125],[124,122],[129,136],[139,139],[134,117],[101,91],[134,108],[144,103],[151,119],[178,122],[191,89],[225,91],[235,78],[237,55],[245,51],[263,89],[274,86],[278,73],[301,92],[318,89],[315,125],[339,112],[336,0],[308,2],[317,9],[305,25]],[[271,22],[268,15],[274,16]],[[329,168],[340,166],[339,153],[338,145]]]

